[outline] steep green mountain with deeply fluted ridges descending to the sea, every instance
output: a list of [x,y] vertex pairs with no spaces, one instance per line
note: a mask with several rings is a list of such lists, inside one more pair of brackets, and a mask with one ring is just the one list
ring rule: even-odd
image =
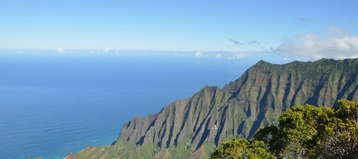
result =
[[88,147],[65,159],[207,159],[233,137],[251,138],[303,104],[358,100],[358,58],[271,64],[259,61],[225,87],[205,86],[160,112],[133,117],[110,146]]

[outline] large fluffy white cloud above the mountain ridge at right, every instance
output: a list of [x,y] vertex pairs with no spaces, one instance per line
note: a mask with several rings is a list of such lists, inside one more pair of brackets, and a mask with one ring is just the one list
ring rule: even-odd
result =
[[332,27],[318,34],[301,34],[288,39],[275,51],[312,59],[357,58],[358,36]]

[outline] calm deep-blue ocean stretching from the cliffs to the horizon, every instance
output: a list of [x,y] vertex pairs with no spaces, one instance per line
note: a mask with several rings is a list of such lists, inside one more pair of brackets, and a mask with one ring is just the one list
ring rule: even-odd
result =
[[223,87],[256,60],[0,53],[0,156],[62,159],[109,145],[132,116],[158,112],[204,85]]

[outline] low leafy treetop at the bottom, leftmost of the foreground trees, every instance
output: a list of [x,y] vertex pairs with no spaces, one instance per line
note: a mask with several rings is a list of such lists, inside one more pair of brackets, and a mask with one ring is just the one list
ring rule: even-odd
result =
[[216,148],[210,159],[273,159],[263,141],[234,138]]

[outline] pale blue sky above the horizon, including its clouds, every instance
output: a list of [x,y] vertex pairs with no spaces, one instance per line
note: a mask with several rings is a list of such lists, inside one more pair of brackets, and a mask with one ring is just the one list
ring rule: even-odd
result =
[[357,9],[357,0],[1,0],[0,49],[357,58]]

